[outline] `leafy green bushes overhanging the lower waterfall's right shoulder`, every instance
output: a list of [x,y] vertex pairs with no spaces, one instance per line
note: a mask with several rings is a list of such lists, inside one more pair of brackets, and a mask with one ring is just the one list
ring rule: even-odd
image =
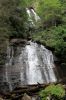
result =
[[63,50],[66,51],[65,37],[66,26],[52,27],[45,31],[35,33],[32,36],[33,40],[39,41],[47,47],[54,48],[54,53],[58,56],[63,56]]

